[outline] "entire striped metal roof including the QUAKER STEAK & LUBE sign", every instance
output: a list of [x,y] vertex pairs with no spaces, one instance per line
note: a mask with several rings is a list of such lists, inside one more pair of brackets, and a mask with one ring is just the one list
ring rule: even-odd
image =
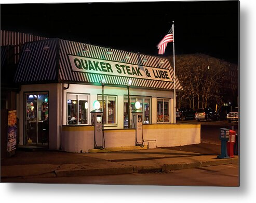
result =
[[[44,50],[45,45],[49,49]],[[31,42],[28,48],[30,52],[21,56],[17,82],[100,84],[104,79],[106,84],[120,86],[131,80],[134,88],[174,89],[173,70],[162,57],[62,39]],[[177,78],[176,89],[182,90]]]

